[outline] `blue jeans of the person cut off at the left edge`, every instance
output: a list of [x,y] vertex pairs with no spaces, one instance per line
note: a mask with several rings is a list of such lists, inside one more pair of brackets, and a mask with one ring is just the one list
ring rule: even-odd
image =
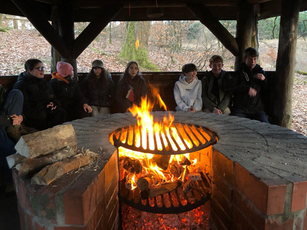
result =
[[[23,112],[24,95],[18,89],[13,89],[7,96],[3,108],[0,110],[1,116],[19,116]],[[5,180],[8,183],[13,182],[13,176],[7,164],[6,157],[14,154],[14,143],[7,136],[5,127],[0,126],[0,170],[4,172]]]

